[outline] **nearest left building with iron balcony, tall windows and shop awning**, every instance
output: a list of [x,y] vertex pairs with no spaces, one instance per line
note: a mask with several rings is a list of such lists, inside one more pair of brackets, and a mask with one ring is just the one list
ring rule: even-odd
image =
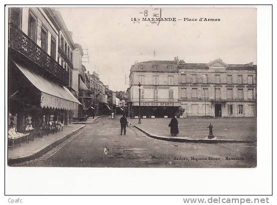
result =
[[68,89],[71,65],[59,62],[62,22],[54,13],[9,8],[8,122],[20,132],[30,124],[36,130],[49,122],[67,125],[80,103]]

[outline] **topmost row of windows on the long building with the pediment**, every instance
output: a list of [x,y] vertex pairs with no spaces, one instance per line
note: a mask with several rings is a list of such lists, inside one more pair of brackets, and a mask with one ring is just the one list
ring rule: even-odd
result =
[[[187,75],[182,74],[181,75],[181,83],[187,83]],[[200,83],[197,79],[196,74],[192,74],[192,83]],[[202,83],[208,83],[208,75],[207,74],[202,74]],[[215,74],[214,76],[214,83],[220,84],[220,74]],[[232,75],[227,75],[227,84],[232,84],[233,83],[233,76]],[[242,75],[237,75],[237,84],[243,84],[242,81]],[[248,75],[248,84],[253,84],[253,76]]]

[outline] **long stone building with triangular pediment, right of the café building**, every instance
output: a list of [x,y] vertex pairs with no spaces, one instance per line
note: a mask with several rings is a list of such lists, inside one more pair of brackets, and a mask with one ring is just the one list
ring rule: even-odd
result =
[[180,63],[179,101],[182,116],[256,116],[256,65]]

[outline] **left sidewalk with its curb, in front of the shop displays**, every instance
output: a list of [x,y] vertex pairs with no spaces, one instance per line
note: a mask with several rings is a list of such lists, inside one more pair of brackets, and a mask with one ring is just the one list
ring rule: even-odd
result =
[[8,148],[8,164],[34,159],[51,150],[83,127],[85,125],[69,124],[63,128],[63,131],[55,134],[49,133],[48,136],[43,135],[42,138],[34,137],[34,141],[29,141],[28,144],[23,141],[21,147],[16,143],[14,150]]

